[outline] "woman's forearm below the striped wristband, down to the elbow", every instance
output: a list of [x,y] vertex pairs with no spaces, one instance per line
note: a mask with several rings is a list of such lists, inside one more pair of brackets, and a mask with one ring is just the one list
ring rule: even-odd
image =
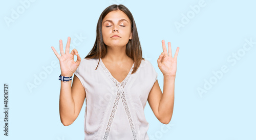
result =
[[63,125],[70,125],[74,122],[75,103],[72,97],[71,81],[61,81],[59,95],[59,115]]

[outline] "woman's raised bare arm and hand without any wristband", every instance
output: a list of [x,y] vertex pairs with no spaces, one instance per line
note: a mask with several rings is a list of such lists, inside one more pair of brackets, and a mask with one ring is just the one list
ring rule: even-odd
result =
[[173,116],[174,109],[174,85],[177,69],[177,55],[179,47],[177,47],[174,58],[172,57],[172,49],[168,42],[168,53],[162,40],[163,52],[157,60],[158,67],[163,73],[163,93],[159,87],[158,80],[154,83],[150,93],[148,94],[148,104],[150,104],[153,113],[157,119],[168,124]]

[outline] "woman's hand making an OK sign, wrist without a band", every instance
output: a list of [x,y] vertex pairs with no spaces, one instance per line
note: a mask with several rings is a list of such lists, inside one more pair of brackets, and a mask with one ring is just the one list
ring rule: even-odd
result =
[[163,52],[160,54],[157,60],[158,67],[163,73],[163,76],[175,78],[176,70],[177,70],[177,56],[180,48],[177,47],[176,52],[174,54],[174,58],[173,58],[170,42],[168,42],[169,55],[167,53],[164,40],[162,40],[162,46],[163,46]]

